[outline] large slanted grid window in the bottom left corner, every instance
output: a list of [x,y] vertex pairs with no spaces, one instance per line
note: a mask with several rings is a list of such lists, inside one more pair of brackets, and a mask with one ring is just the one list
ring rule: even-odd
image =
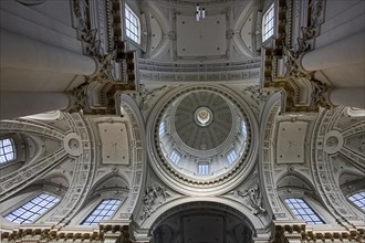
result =
[[32,223],[59,202],[59,197],[42,193],[8,213],[6,219],[14,223]]

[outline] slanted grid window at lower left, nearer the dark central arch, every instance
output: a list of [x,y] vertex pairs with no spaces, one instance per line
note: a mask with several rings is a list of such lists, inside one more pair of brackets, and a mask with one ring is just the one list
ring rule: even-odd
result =
[[108,220],[121,204],[121,200],[105,199],[94,211],[82,222],[83,225],[97,225],[102,220]]

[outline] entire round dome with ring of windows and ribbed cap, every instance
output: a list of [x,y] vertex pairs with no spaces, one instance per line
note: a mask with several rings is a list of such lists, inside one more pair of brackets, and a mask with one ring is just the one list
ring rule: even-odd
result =
[[215,187],[244,168],[251,147],[246,109],[215,87],[186,88],[155,120],[156,169],[194,187]]

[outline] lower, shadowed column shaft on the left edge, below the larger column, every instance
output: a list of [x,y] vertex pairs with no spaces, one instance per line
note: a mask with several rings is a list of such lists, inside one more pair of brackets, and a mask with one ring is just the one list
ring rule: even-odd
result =
[[0,119],[67,108],[69,95],[63,92],[1,92]]

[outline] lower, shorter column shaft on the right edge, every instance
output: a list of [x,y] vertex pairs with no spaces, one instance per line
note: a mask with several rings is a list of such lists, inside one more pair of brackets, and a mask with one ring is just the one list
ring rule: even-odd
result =
[[365,87],[335,87],[328,91],[333,105],[343,105],[365,109]]

